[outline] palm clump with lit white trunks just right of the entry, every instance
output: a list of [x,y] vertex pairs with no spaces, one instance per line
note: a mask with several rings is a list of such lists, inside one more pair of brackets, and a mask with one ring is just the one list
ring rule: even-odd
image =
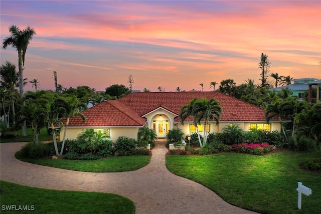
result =
[[[180,119],[181,123],[184,124],[184,121],[192,116],[193,124],[196,127],[197,135],[199,138],[200,146],[203,147],[206,145],[208,133],[206,132],[206,127],[209,125],[209,122],[212,120],[216,121],[216,125],[219,124],[219,120],[221,117],[222,108],[220,103],[214,98],[207,100],[206,98],[202,98],[199,100],[198,98],[194,98],[190,101],[189,104],[184,105],[180,111]],[[204,120],[204,128],[203,128],[203,144],[200,137],[200,132],[198,129],[198,125],[201,124],[201,120]]]

